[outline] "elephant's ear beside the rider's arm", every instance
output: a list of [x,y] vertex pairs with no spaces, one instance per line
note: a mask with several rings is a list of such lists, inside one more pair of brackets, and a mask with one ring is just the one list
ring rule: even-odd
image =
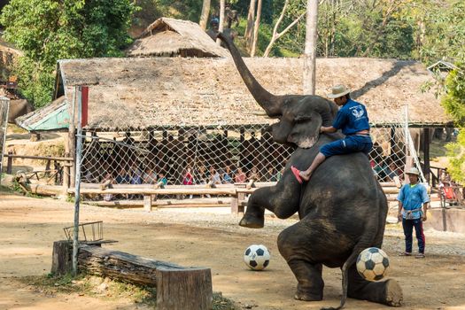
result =
[[321,127],[322,116],[318,112],[300,112],[294,117],[287,141],[302,149],[311,148],[318,141]]

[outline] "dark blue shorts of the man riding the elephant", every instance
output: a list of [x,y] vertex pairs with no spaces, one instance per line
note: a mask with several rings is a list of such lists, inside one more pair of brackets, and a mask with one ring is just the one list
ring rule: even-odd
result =
[[334,155],[342,155],[362,151],[368,155],[371,151],[373,143],[370,136],[345,136],[344,139],[337,140],[328,144],[324,144],[320,151],[329,158]]

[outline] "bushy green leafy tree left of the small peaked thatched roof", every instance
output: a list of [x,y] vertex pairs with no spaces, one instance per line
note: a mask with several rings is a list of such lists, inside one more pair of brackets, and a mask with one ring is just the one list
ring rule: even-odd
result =
[[14,68],[21,94],[36,107],[49,103],[58,59],[122,56],[135,11],[131,0],[12,0],[0,23],[24,52]]

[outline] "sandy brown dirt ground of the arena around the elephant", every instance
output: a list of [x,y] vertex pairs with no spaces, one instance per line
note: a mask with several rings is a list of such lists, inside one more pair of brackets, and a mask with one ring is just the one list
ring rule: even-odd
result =
[[[50,272],[53,241],[74,217],[74,204],[51,198],[25,198],[0,191],[0,309],[146,309],[124,298],[108,300],[79,294],[44,294],[19,281],[26,275]],[[117,210],[81,206],[82,221],[104,221],[107,245],[115,250],[166,260],[182,266],[211,267],[213,291],[236,301],[239,308],[319,309],[337,306],[341,294],[338,269],[324,268],[321,302],[294,300],[296,280],[276,248],[279,232],[297,221],[267,216],[265,229],[244,229],[226,208]],[[390,276],[404,290],[404,309],[465,309],[465,235],[426,230],[427,258],[397,255],[403,248],[398,225],[388,225],[384,251],[390,255]],[[269,267],[245,267],[244,249],[266,244]],[[387,306],[349,298],[346,309]]]

